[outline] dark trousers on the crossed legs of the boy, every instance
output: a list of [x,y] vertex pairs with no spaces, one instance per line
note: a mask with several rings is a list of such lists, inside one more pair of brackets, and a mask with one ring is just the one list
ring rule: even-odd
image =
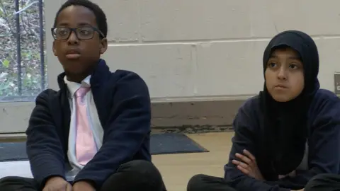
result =
[[[33,178],[5,177],[0,179],[1,191],[40,191]],[[148,161],[130,161],[122,164],[116,173],[103,183],[101,191],[166,191],[162,175]]]

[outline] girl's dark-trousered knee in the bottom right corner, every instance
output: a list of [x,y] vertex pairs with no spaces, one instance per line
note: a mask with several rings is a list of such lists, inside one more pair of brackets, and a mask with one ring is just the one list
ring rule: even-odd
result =
[[319,174],[314,176],[306,185],[305,191],[339,191],[340,175]]

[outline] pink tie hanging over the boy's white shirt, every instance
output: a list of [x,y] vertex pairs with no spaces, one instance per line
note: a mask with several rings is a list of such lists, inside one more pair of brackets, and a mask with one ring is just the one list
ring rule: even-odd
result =
[[89,90],[90,88],[80,87],[75,93],[77,110],[76,156],[79,164],[83,166],[94,158],[97,150],[87,115],[86,100],[84,100],[84,96]]

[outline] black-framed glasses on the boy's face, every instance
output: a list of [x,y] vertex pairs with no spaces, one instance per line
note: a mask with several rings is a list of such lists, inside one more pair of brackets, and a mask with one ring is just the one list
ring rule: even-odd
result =
[[72,31],[76,34],[79,40],[89,40],[94,37],[94,33],[97,32],[101,37],[104,37],[101,30],[94,28],[93,26],[81,26],[78,28],[68,27],[56,27],[51,28],[52,36],[55,40],[67,40]]

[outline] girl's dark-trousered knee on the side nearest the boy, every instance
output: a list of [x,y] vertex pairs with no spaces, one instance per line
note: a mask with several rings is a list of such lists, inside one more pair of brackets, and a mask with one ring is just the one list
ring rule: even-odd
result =
[[210,175],[194,175],[188,182],[187,191],[237,191],[223,179]]

